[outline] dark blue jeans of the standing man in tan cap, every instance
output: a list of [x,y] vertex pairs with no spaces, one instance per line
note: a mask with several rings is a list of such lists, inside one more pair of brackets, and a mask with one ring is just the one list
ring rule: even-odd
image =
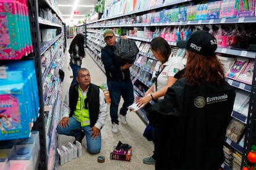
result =
[[108,90],[109,97],[111,100],[110,103],[110,116],[111,123],[119,124],[118,121],[118,105],[122,96],[124,99],[124,103],[122,104],[122,108],[120,109],[120,115],[126,116],[129,105],[134,102],[134,86],[132,86],[132,81],[113,81],[108,80]]

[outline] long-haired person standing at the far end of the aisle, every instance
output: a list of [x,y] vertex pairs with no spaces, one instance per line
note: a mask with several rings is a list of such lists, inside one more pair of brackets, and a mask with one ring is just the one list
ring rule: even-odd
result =
[[70,67],[73,71],[73,80],[71,84],[76,84],[75,75],[77,70],[81,68],[82,59],[85,57],[85,49],[83,44],[85,43],[85,37],[83,34],[77,34],[74,39],[71,41],[69,46],[69,54],[70,54]]

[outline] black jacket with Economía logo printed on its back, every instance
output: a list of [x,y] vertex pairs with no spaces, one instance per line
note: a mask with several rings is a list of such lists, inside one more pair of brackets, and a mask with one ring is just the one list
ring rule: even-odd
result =
[[226,82],[192,87],[181,78],[169,87],[147,115],[164,131],[156,169],[219,169],[235,95]]

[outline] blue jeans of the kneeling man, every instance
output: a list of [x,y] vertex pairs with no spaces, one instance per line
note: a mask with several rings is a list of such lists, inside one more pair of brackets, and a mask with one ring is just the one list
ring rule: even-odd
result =
[[89,131],[89,129],[90,129],[90,126],[82,127],[81,123],[79,123],[73,117],[69,118],[69,126],[67,126],[66,128],[63,128],[59,125],[56,127],[58,134],[74,136],[75,139],[79,139],[79,137],[81,137],[82,133],[84,132],[86,137],[88,152],[92,154],[99,153],[101,150],[101,132],[100,132],[100,137],[98,137],[97,139],[93,139],[92,136],[90,136],[91,131]]

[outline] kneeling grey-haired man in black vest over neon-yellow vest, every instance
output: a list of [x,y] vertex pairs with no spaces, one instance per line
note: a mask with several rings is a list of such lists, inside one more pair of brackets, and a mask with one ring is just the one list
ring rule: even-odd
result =
[[74,136],[82,142],[86,136],[89,153],[101,150],[101,128],[105,125],[108,107],[99,86],[91,83],[87,68],[77,71],[78,84],[70,86],[62,107],[62,119],[56,128],[59,134]]

